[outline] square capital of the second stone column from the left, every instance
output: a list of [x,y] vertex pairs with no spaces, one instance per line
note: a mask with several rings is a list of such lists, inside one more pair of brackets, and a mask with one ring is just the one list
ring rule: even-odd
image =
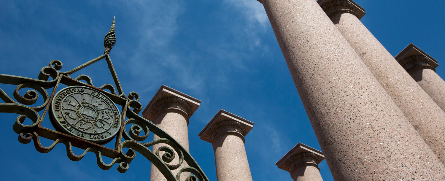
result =
[[251,121],[220,109],[198,136],[201,140],[213,143],[218,137],[234,134],[244,141],[244,137],[253,128],[253,124]]

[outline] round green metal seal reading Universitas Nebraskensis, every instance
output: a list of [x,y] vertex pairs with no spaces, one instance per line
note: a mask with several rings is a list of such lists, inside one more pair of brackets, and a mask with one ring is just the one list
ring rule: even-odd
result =
[[95,143],[113,139],[121,127],[113,101],[85,86],[70,86],[56,93],[51,112],[53,124],[63,132]]

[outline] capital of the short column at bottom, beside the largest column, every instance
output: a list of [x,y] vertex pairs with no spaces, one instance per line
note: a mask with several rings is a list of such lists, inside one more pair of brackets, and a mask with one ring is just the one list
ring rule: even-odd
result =
[[279,169],[292,173],[293,170],[305,165],[313,165],[318,168],[318,164],[323,160],[324,155],[322,152],[303,143],[298,143],[275,165],[277,165]]

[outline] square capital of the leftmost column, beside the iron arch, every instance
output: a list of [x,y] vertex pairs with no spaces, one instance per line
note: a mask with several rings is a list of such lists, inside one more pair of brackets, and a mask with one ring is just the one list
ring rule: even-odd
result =
[[194,97],[162,85],[148,103],[142,115],[148,120],[154,121],[160,113],[166,111],[178,112],[186,117],[188,124],[188,119],[198,109],[200,103],[201,101]]

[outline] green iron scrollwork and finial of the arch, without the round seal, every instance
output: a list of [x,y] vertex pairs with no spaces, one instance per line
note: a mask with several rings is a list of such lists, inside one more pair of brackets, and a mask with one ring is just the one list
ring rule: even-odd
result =
[[[146,157],[169,181],[179,181],[182,173],[188,174],[186,181],[208,181],[206,175],[202,172],[202,169],[198,166],[196,161],[191,157],[190,153],[186,151],[178,141],[174,140],[169,134],[158,128],[151,121],[138,115],[142,110],[142,105],[139,103],[139,95],[135,92],[130,92],[128,96],[125,96],[117,74],[111,62],[109,51],[114,47],[116,43],[116,36],[114,32],[115,19],[113,19],[110,31],[106,34],[104,39],[105,51],[104,54],[97,58],[86,62],[76,68],[73,68],[66,72],[61,72],[63,63],[59,60],[52,60],[49,66],[43,67],[40,71],[38,79],[32,79],[21,76],[0,74],[0,83],[17,85],[13,92],[14,101],[7,93],[0,89],[0,98],[5,103],[0,103],[1,113],[16,113],[20,114],[16,118],[14,125],[12,126],[15,133],[19,134],[19,141],[21,143],[30,143],[33,141],[34,146],[40,153],[50,152],[55,145],[64,144],[69,159],[73,161],[81,160],[86,153],[93,152],[96,154],[97,165],[104,170],[110,169],[114,164],[119,164],[117,170],[121,173],[125,173],[129,169],[129,164],[136,156],[136,152]],[[101,87],[95,87],[89,76],[80,75],[76,78],[72,78],[70,75],[74,72],[81,70],[93,64],[99,60],[105,59],[113,76],[116,88],[111,84],[104,84]],[[86,83],[82,82],[84,80]],[[122,106],[120,113],[121,126],[116,136],[116,144],[114,149],[105,147],[98,143],[82,139],[70,135],[69,133],[63,133],[62,130],[48,129],[42,126],[43,119],[51,109],[50,104],[54,99],[54,95],[57,92],[59,85],[64,84],[66,86],[84,86],[97,91],[106,97],[108,97],[114,104]],[[24,96],[19,93],[22,88],[30,88]],[[46,89],[53,88],[52,93],[49,95]],[[107,89],[108,91],[105,91]],[[43,99],[43,104],[35,107],[31,107],[37,101],[37,99]],[[43,110],[43,113],[39,113]],[[50,112],[51,114],[51,112]],[[51,116],[49,116],[51,117]],[[25,118],[32,121],[32,124],[25,125]],[[51,120],[54,121],[54,120]],[[56,126],[54,126],[56,128]],[[127,131],[127,127],[129,127]],[[150,132],[154,133],[159,139],[146,141]],[[40,144],[40,137],[53,140],[53,144],[48,147]],[[157,144],[167,144],[169,146],[160,146],[158,150],[152,151],[148,147]],[[76,155],[73,153],[73,147],[84,149],[84,153]],[[126,153],[123,149],[128,149]],[[161,155],[161,153],[163,153]],[[175,156],[177,155],[177,156]],[[112,158],[111,163],[106,164],[102,161],[102,157]],[[171,162],[178,157],[178,163],[172,164]],[[177,174],[174,174],[172,170],[182,167]]]

